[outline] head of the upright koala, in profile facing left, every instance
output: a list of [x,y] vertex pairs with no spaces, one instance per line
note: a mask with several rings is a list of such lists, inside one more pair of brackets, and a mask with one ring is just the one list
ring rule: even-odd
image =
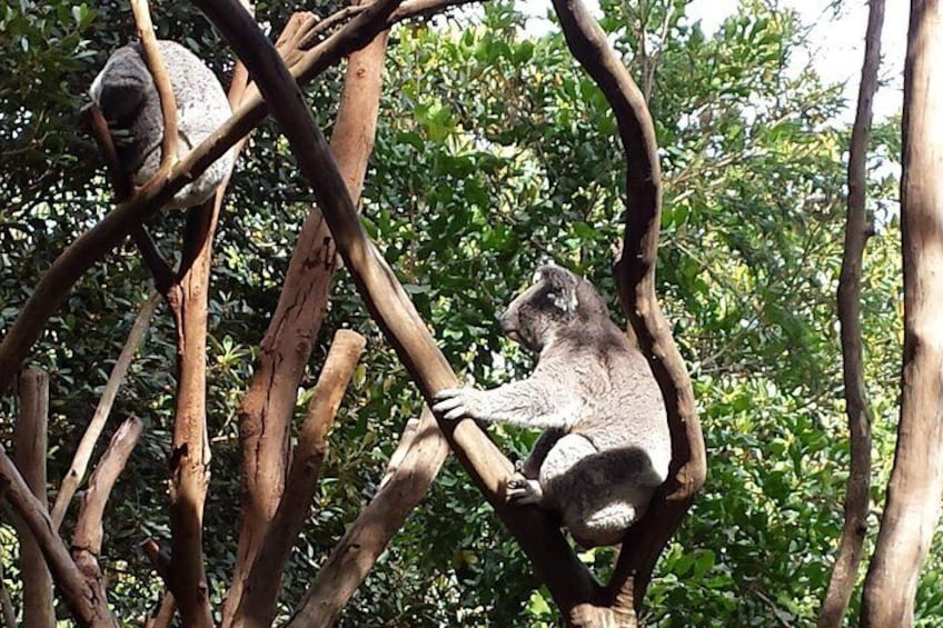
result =
[[539,353],[575,323],[584,327],[600,316],[608,320],[606,305],[593,286],[569,270],[542,266],[533,281],[498,319],[508,338],[532,351]]

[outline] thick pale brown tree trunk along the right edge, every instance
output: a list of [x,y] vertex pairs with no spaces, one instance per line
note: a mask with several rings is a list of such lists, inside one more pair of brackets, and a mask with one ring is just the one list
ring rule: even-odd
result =
[[943,21],[939,0],[911,3],[904,67],[904,360],[887,502],[861,625],[913,626],[921,567],[943,489]]

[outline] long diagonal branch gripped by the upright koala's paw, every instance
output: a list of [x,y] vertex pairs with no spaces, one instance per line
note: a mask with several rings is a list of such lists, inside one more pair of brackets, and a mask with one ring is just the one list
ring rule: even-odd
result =
[[[301,172],[315,188],[345,265],[371,315],[427,401],[433,399],[436,391],[458,385],[425,322],[364,232],[327,141],[275,48],[255,21],[231,0],[197,0],[196,3],[219,28],[266,93],[266,100],[271,104],[272,113],[289,140]],[[350,24],[369,16],[371,10],[388,12],[395,7],[396,0],[381,0],[371,4]],[[447,422],[440,427],[473,479],[520,541],[564,611],[568,615],[572,608],[595,601],[598,597],[597,586],[550,518],[537,508],[508,507],[502,500],[499,490],[510,477],[513,468],[497,447],[474,421],[464,420],[457,425]]]

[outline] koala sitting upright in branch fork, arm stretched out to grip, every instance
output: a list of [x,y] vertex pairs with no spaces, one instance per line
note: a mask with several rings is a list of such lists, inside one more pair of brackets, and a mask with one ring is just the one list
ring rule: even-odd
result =
[[435,411],[546,430],[508,481],[507,499],[558,512],[584,547],[621,542],[672,457],[648,362],[595,288],[557,266],[537,270],[500,326],[538,355],[530,377],[493,390],[441,390]]

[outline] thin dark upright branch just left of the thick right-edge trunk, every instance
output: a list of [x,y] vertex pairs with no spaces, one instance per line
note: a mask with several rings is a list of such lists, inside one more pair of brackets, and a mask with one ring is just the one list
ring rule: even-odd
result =
[[838,280],[838,320],[842,325],[842,373],[845,385],[845,413],[851,439],[851,468],[845,495],[845,522],[828,590],[818,616],[821,628],[842,625],[852,592],[867,532],[871,506],[871,407],[864,387],[864,357],[861,332],[861,275],[864,245],[867,239],[865,186],[867,141],[877,70],[881,66],[881,29],[884,24],[884,0],[871,0],[865,33],[864,64],[857,112],[848,149],[848,198],[845,222],[845,251]]

